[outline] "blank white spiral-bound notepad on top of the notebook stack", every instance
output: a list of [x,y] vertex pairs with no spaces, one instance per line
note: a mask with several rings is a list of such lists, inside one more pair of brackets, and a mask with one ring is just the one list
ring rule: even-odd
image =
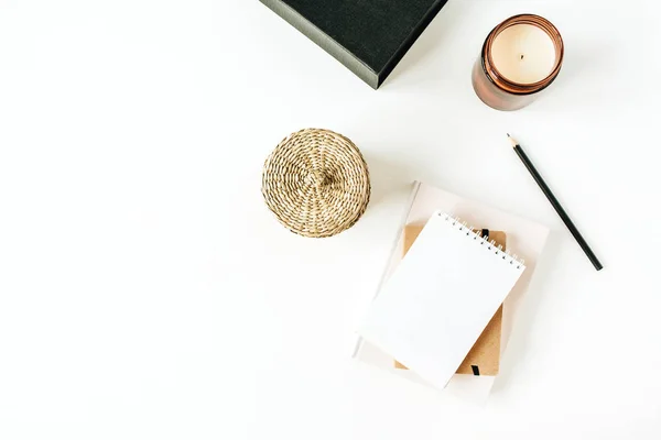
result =
[[457,219],[435,212],[358,332],[443,388],[524,268]]

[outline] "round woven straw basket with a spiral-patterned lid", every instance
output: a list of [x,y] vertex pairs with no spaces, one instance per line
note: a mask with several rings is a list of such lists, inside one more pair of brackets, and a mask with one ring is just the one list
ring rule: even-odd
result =
[[335,235],[358,221],[369,202],[367,164],[345,136],[307,129],[285,138],[262,173],[267,206],[289,230]]

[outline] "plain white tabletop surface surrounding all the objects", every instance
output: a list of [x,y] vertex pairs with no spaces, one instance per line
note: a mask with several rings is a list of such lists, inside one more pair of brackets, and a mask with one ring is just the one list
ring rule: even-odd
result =
[[[256,0],[0,0],[0,438],[658,439],[654,3],[449,0],[375,91]],[[470,68],[520,12],[565,63],[503,113]],[[372,177],[328,240],[260,194],[307,127]],[[485,407],[350,359],[413,179],[553,230]]]

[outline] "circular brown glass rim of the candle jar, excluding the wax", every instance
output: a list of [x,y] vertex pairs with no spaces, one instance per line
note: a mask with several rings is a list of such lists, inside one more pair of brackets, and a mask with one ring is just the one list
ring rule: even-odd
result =
[[[494,40],[506,29],[517,25],[517,24],[530,24],[535,28],[544,31],[549,37],[553,41],[553,46],[555,48],[555,62],[553,64],[553,69],[549,75],[537,82],[517,82],[512,81],[505,77],[494,64],[494,59],[491,57],[491,44]],[[496,87],[503,89],[505,91],[513,95],[531,95],[537,94],[549,87],[557,74],[562,68],[562,62],[564,58],[564,42],[562,40],[562,35],[557,31],[557,29],[551,23],[549,20],[543,16],[523,13],[518,15],[512,15],[509,19],[505,20],[500,24],[489,32],[485,43],[483,44],[481,51],[481,67],[485,72],[489,81],[491,81]]]

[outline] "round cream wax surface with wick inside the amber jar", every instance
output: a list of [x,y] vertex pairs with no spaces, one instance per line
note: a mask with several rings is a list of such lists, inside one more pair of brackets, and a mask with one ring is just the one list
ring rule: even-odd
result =
[[514,24],[494,40],[491,59],[496,69],[508,80],[533,84],[553,72],[555,45],[542,29],[532,24]]

